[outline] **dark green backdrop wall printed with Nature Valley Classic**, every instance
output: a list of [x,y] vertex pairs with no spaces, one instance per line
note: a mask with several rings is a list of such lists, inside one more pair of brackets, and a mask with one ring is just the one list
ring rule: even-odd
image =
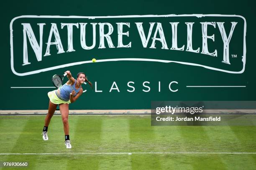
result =
[[[2,2],[0,109],[47,109],[51,77],[66,70],[74,77],[86,72],[94,84],[94,89],[83,85],[87,91],[70,109],[149,109],[156,100],[256,100],[254,7],[247,0]],[[95,46],[84,49],[81,32],[86,45],[93,45],[93,25]],[[118,32],[118,25],[123,30]],[[227,53],[223,39],[232,29]],[[112,43],[103,37],[108,32]],[[207,54],[215,50],[217,56]]]

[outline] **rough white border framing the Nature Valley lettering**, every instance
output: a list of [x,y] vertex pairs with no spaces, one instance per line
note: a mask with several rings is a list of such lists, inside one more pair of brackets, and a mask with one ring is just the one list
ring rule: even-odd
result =
[[11,54],[11,70],[15,75],[18,76],[25,76],[25,75],[33,75],[37,74],[39,72],[46,72],[49,70],[55,70],[58,68],[64,68],[64,67],[69,67],[73,65],[81,65],[85,63],[90,63],[92,62],[91,60],[88,61],[81,61],[81,62],[72,62],[69,64],[64,64],[64,65],[58,65],[54,67],[48,67],[40,70],[34,70],[30,72],[24,72],[24,73],[19,73],[16,72],[14,69],[14,63],[13,63],[13,22],[19,18],[87,18],[87,19],[95,19],[95,18],[153,18],[153,17],[197,17],[197,18],[202,18],[202,17],[238,17],[242,18],[244,20],[244,29],[243,29],[243,56],[242,56],[242,62],[243,62],[243,69],[241,71],[235,72],[235,71],[228,71],[228,70],[222,70],[214,67],[209,67],[206,65],[200,65],[200,64],[195,64],[195,63],[189,63],[189,62],[179,62],[179,61],[171,61],[171,60],[157,60],[157,59],[147,59],[147,58],[115,58],[115,59],[105,59],[105,60],[97,60],[97,62],[109,62],[109,61],[153,61],[153,62],[175,62],[179,64],[184,64],[184,65],[194,65],[194,66],[200,66],[200,67],[205,67],[210,70],[216,70],[220,72],[227,72],[227,73],[235,73],[235,74],[241,74],[245,70],[245,64],[246,64],[246,19],[241,16],[241,15],[222,15],[222,14],[184,14],[184,15],[119,15],[119,16],[56,16],[56,15],[21,15],[18,17],[15,17],[11,20],[10,22],[10,54]]

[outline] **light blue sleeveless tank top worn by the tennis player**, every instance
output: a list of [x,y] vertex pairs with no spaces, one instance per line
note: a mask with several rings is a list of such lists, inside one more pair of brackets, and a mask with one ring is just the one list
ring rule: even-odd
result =
[[75,87],[75,86],[76,86],[76,82],[77,82],[77,80],[75,80],[74,85],[67,85],[67,84],[65,83],[63,86],[61,86],[61,87],[59,88],[59,90],[60,90],[60,99],[61,99],[61,100],[69,101],[70,93],[71,93],[73,90],[75,90],[75,95],[74,95],[74,96],[77,95],[77,93],[79,92],[79,90],[80,90],[81,87],[79,87],[78,89],[76,89],[76,87]]

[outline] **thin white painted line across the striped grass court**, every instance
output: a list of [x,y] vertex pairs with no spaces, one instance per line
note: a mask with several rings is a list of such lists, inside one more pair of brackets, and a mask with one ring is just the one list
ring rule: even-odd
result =
[[123,154],[256,154],[256,153],[207,153],[207,152],[142,152],[142,153],[0,153],[0,155],[123,155]]

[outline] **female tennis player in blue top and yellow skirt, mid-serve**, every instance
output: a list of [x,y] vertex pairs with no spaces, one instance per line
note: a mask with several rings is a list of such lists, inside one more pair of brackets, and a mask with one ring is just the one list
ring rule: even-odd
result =
[[68,81],[66,84],[58,88],[57,90],[48,92],[49,96],[49,109],[48,113],[44,120],[44,129],[43,129],[43,140],[48,140],[47,131],[48,126],[51,121],[51,117],[54,115],[56,107],[59,105],[59,110],[61,112],[61,118],[64,126],[65,133],[65,145],[66,148],[71,148],[70,140],[69,140],[69,104],[75,102],[80,95],[83,93],[83,89],[81,85],[86,81],[92,87],[92,83],[87,80],[87,77],[84,72],[79,72],[77,74],[77,80],[75,80],[70,71],[66,71]]

